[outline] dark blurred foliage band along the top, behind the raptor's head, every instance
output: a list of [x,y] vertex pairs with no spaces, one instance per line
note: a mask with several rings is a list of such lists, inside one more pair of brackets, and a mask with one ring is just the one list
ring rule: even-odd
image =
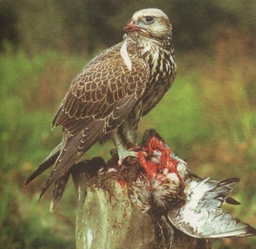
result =
[[119,42],[131,13],[157,7],[173,23],[176,50],[202,49],[211,45],[218,23],[255,32],[255,5],[254,0],[0,0],[0,40],[26,51],[91,53]]

